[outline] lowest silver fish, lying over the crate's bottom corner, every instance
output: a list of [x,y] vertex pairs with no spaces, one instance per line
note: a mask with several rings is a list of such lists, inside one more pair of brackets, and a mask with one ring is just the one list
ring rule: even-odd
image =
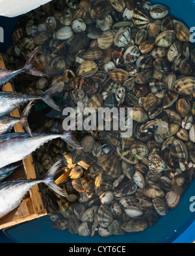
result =
[[17,208],[26,193],[32,186],[40,183],[46,184],[51,190],[58,193],[62,197],[65,194],[55,183],[53,177],[60,167],[60,161],[56,162],[47,172],[44,178],[34,178],[29,180],[12,180],[0,183],[0,218]]

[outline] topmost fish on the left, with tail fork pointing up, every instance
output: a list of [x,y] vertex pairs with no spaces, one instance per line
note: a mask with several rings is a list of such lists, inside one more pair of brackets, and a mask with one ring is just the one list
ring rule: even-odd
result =
[[27,62],[25,63],[23,68],[19,70],[12,71],[12,70],[5,70],[3,68],[0,68],[0,88],[3,87],[3,85],[5,85],[6,83],[8,83],[8,81],[16,78],[16,76],[18,76],[23,72],[27,74],[31,74],[33,76],[41,76],[41,77],[47,76],[46,73],[40,72],[39,70],[37,70],[32,66],[32,61],[37,51],[38,51],[38,47],[36,47],[34,51],[32,51],[31,55],[29,56],[29,59],[27,59]]

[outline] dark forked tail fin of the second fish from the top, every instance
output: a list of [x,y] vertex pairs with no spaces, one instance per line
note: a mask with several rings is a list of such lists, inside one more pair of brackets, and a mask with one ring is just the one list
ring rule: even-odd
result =
[[53,109],[60,111],[60,107],[57,106],[57,104],[55,103],[55,101],[53,100],[52,96],[53,94],[55,94],[57,92],[57,89],[59,87],[61,87],[62,85],[64,85],[63,82],[57,83],[57,85],[54,85],[53,87],[49,88],[47,91],[45,91],[42,94],[42,100],[50,107],[52,107]]

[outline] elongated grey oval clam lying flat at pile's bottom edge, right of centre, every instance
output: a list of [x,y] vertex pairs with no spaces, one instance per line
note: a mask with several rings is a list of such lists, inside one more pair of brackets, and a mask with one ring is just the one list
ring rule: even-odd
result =
[[148,223],[145,220],[133,218],[123,223],[120,227],[128,233],[136,233],[147,229]]

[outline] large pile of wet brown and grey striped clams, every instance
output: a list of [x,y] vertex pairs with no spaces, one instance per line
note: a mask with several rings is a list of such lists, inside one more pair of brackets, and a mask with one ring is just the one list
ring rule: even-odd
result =
[[[34,66],[47,73],[19,76],[18,91],[42,94],[61,82],[63,107],[133,108],[131,137],[97,127],[75,132],[83,150],[61,140],[36,150],[40,175],[63,160],[55,180],[66,197],[44,188],[52,227],[124,235],[176,208],[195,177],[195,50],[185,23],[144,0],[53,0],[20,16],[12,39],[6,68],[23,66],[38,46]],[[59,132],[62,119],[33,127]]]

